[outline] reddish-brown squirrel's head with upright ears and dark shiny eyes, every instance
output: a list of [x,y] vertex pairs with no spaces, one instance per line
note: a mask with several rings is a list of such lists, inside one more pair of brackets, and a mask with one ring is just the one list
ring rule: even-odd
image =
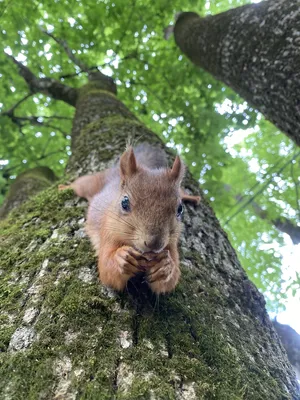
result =
[[120,239],[142,253],[160,252],[177,242],[183,176],[184,165],[178,156],[172,168],[152,170],[137,163],[132,148],[126,150],[120,159],[120,196],[114,204]]

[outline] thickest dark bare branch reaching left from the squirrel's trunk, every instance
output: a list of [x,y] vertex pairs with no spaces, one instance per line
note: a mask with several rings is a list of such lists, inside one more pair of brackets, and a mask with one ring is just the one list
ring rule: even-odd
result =
[[5,53],[19,68],[19,74],[26,81],[32,93],[43,93],[56,100],[62,100],[75,107],[77,100],[77,89],[64,85],[51,78],[37,78],[29,68],[17,61],[13,56]]

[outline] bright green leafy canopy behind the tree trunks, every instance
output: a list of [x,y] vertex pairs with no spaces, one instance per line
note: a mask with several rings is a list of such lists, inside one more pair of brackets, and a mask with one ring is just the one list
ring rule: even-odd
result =
[[[41,27],[66,39],[87,65],[100,66],[112,75],[120,99],[169,146],[181,151],[228,231],[242,265],[272,300],[270,309],[275,309],[284,297],[279,252],[282,234],[269,220],[259,218],[251,204],[227,221],[239,208],[237,196],[247,200],[260,191],[255,201],[271,219],[285,216],[296,224],[299,158],[276,175],[296,151],[294,145],[235,93],[195,68],[173,40],[162,38],[163,29],[178,10],[205,15],[243,3],[246,1],[131,0],[124,7],[121,0],[33,0],[22,2],[20,12],[18,1],[7,1],[1,3],[0,37],[5,51],[39,77],[54,77],[76,87],[86,82],[86,74]],[[0,78],[0,111],[5,112],[23,99],[28,89],[4,53],[0,54]],[[71,154],[73,113],[74,109],[62,102],[32,94],[15,115],[39,117],[35,124],[22,120],[19,126],[1,116],[0,196],[7,183],[26,168],[47,165],[57,175],[63,174]],[[245,133],[250,134],[234,149],[228,146]],[[269,174],[274,177],[267,184]],[[293,285],[298,287],[299,282]]]

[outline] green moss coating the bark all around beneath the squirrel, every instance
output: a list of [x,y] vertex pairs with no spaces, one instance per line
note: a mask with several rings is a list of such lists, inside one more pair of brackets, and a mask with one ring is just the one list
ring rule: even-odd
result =
[[[109,297],[97,282],[88,239],[74,234],[84,213],[71,191],[52,187],[0,223],[1,393],[11,391],[14,399],[53,398],[65,379],[81,399],[175,399],[176,391],[192,382],[197,399],[263,398],[258,393],[268,393],[270,400],[288,398],[276,379],[278,371],[272,376],[259,357],[257,365],[247,358],[258,351],[247,340],[250,329],[259,332],[253,316],[251,324],[243,326],[241,318],[240,329],[230,328],[233,348],[224,321],[216,318],[218,308],[230,306],[207,277],[198,290],[204,272],[195,251],[184,257],[193,260],[199,279],[183,268],[174,294],[144,300]],[[94,276],[90,283],[80,279],[82,268]],[[24,351],[7,352],[13,332],[27,326],[23,317],[29,308],[38,310],[35,340]],[[133,346],[120,346],[122,331],[132,336]],[[62,378],[55,366],[65,357],[72,366]],[[116,391],[122,363],[133,374],[128,392]]]

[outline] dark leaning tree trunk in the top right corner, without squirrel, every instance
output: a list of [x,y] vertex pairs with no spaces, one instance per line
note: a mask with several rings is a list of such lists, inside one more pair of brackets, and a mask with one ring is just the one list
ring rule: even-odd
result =
[[177,45],[300,145],[300,1],[270,0],[207,18],[180,14]]

